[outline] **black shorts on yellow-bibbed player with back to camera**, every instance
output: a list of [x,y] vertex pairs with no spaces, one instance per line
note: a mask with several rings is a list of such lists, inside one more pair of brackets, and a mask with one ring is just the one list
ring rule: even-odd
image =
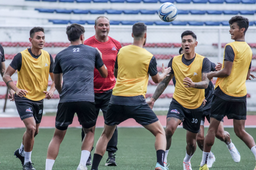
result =
[[140,105],[109,104],[105,124],[109,126],[119,125],[130,118],[136,120],[140,125],[149,125],[158,120],[154,111],[146,103]]

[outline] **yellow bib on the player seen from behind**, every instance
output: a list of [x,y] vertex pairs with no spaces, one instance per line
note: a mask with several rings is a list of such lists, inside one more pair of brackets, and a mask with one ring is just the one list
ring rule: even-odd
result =
[[113,88],[115,96],[145,97],[148,86],[148,67],[153,54],[135,45],[120,48],[117,54],[118,74]]

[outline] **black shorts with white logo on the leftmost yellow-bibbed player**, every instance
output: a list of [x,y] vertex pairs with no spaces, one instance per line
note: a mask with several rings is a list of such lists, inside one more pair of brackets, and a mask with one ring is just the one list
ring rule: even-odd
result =
[[43,103],[35,104],[29,101],[15,101],[15,105],[21,120],[34,117],[35,123],[41,123],[44,108]]

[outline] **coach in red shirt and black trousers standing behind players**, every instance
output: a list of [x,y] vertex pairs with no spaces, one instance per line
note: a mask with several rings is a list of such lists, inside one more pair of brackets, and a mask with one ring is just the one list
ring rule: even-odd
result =
[[[121,48],[120,42],[108,36],[110,22],[107,17],[99,16],[95,20],[95,35],[84,41],[84,45],[98,48],[102,53],[102,60],[107,66],[108,77],[102,78],[99,71],[94,68],[94,99],[96,114],[101,109],[105,119],[108,103],[112,94],[112,89],[116,84],[114,77],[114,65],[118,50]],[[84,133],[82,132],[82,139]],[[107,145],[108,159],[105,166],[116,166],[115,152],[117,151],[117,128]],[[91,155],[86,163],[91,165]]]

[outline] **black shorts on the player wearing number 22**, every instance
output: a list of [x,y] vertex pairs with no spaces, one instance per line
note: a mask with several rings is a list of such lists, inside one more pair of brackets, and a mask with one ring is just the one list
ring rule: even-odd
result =
[[74,114],[77,114],[78,121],[83,128],[91,128],[96,125],[97,115],[94,102],[77,101],[61,102],[58,104],[55,127],[59,130],[66,130],[72,124]]

